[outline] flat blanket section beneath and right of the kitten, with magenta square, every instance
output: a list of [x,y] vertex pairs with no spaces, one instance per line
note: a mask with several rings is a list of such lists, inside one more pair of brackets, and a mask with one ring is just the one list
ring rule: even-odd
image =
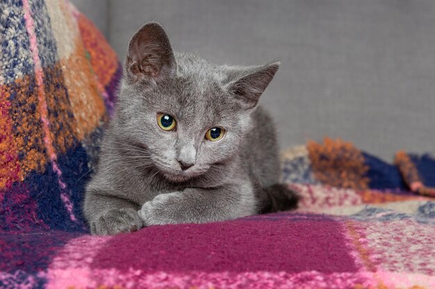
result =
[[288,150],[295,212],[117,236],[3,231],[0,288],[435,288],[435,202],[402,177],[429,188],[435,170],[419,168],[435,159],[407,156],[393,166],[330,139]]

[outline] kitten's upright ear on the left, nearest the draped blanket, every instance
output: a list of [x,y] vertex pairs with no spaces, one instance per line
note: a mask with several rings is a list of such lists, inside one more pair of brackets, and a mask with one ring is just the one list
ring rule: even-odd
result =
[[171,44],[160,24],[145,24],[131,38],[124,65],[127,76],[133,82],[159,80],[177,71]]

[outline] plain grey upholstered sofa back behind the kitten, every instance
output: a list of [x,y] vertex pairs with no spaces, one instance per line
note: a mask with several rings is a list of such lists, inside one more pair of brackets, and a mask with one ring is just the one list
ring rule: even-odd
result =
[[[218,64],[281,60],[262,100],[281,146],[340,137],[388,160],[395,150],[435,148],[433,0],[108,3],[107,37],[122,60],[151,20],[175,50]],[[90,8],[82,10],[94,17]]]

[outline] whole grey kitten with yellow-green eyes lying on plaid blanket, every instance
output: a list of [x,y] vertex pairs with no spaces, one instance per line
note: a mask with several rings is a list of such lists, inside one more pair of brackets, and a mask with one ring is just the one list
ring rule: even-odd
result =
[[217,66],[173,53],[165,30],[130,41],[115,117],[87,186],[92,234],[292,209],[272,121],[258,98],[279,62]]

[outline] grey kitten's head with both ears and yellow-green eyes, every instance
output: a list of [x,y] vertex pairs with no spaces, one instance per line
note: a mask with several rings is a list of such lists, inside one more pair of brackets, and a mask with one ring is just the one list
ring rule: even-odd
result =
[[149,150],[172,181],[206,173],[231,159],[253,128],[251,114],[278,62],[217,66],[174,54],[165,30],[143,26],[130,41],[116,125],[125,141]]

